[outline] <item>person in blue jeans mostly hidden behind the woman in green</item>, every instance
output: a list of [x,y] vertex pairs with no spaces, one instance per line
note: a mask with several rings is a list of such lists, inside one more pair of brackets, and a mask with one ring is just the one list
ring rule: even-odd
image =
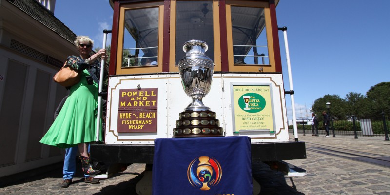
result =
[[[59,103],[59,106],[57,107],[56,111],[54,112],[54,120],[56,120],[59,111],[62,109],[62,106],[64,105],[66,98],[68,96],[65,96],[61,102]],[[63,173],[63,181],[61,182],[61,188],[67,188],[72,183],[73,176],[76,172],[76,156],[78,153],[78,147],[71,147],[65,149],[65,158],[64,158],[64,167],[62,169]],[[86,183],[100,183],[99,179],[92,178],[91,176],[84,174],[84,180]]]

